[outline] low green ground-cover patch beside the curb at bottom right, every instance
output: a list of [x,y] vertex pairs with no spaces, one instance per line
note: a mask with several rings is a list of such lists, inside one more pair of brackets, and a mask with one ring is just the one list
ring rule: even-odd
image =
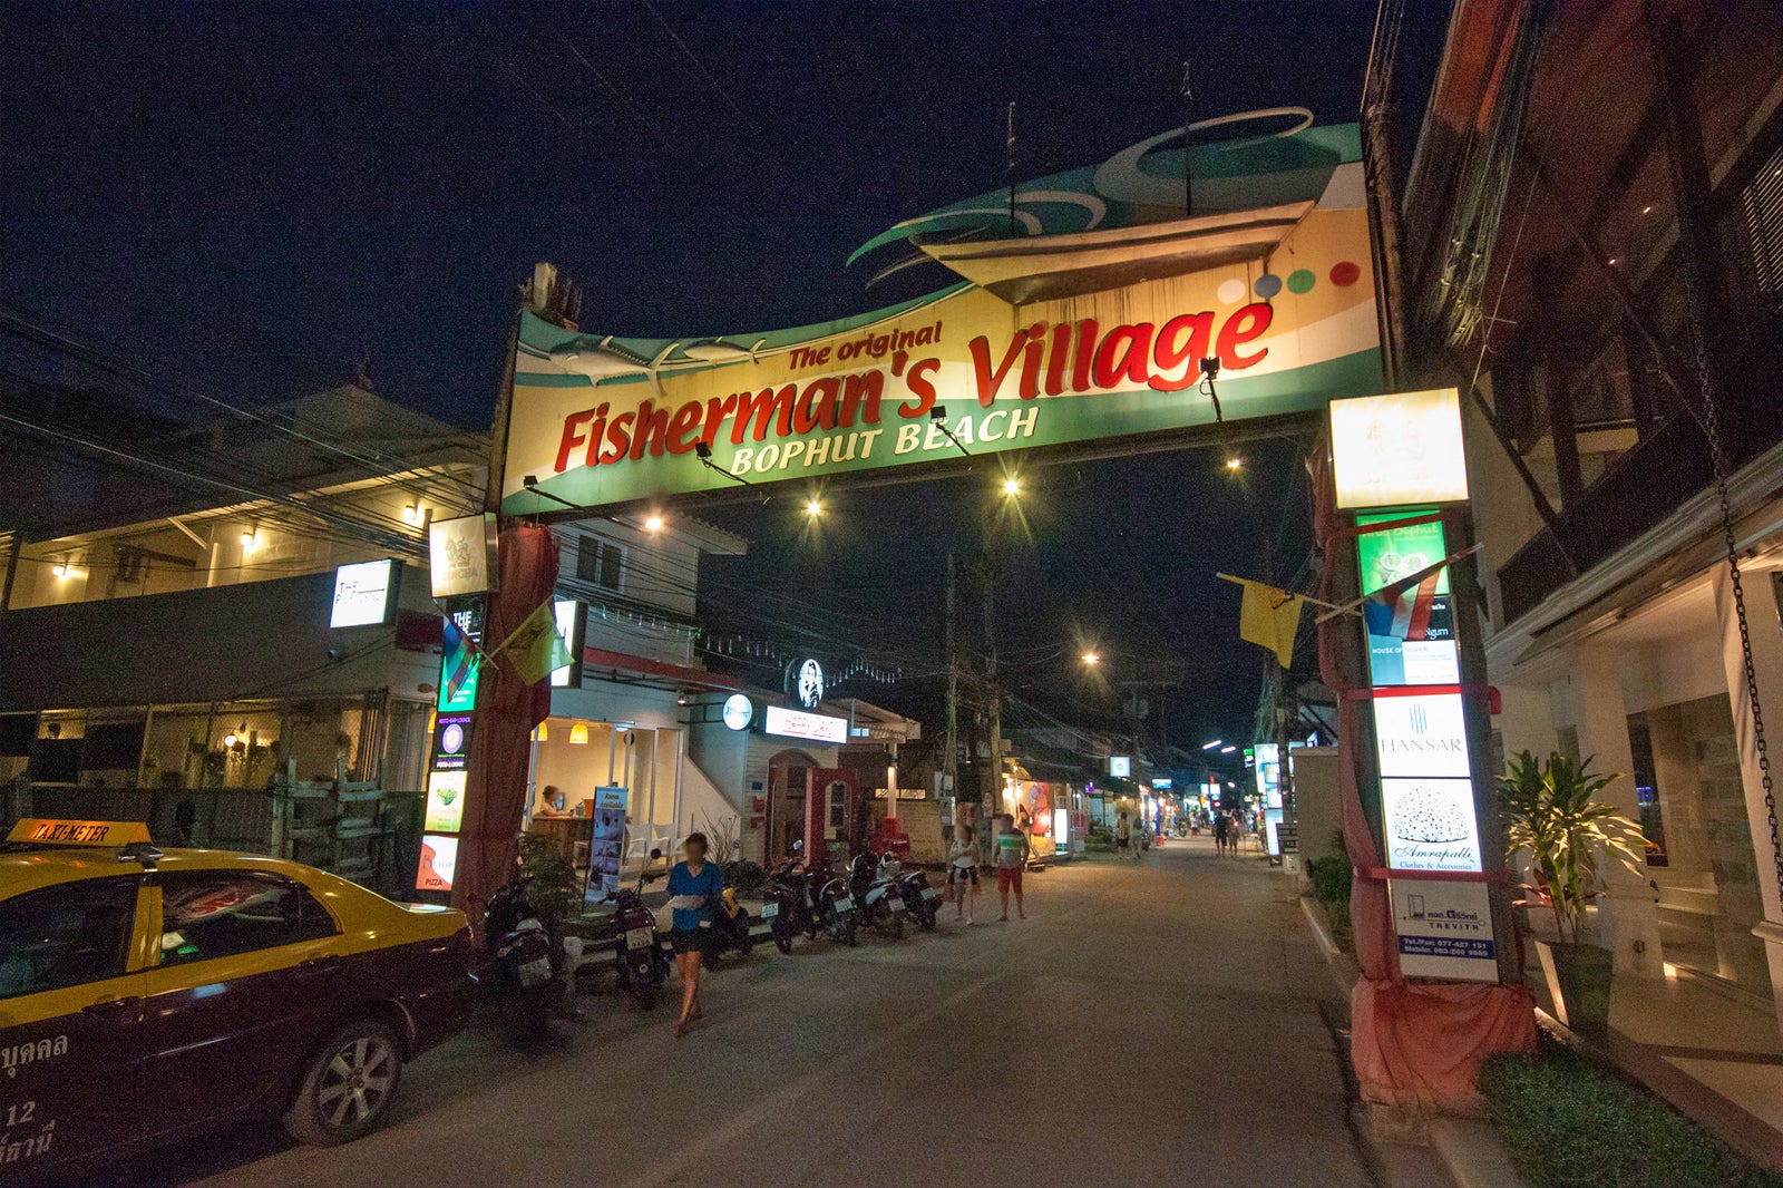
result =
[[1783,1188],[1646,1090],[1567,1049],[1492,1056],[1487,1117],[1535,1188]]

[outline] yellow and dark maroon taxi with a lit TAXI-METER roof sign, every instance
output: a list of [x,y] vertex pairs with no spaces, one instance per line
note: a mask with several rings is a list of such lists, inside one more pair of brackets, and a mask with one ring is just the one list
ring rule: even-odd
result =
[[0,846],[0,1181],[282,1113],[358,1138],[472,1002],[462,912],[294,862],[20,821]]

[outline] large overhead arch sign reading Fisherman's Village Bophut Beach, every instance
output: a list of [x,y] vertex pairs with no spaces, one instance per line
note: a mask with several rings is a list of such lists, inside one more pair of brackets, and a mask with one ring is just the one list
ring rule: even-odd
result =
[[1359,132],[1255,118],[1195,146],[1211,214],[1180,218],[1179,128],[1016,186],[1016,237],[1007,191],[899,223],[856,259],[922,252],[959,284],[870,314],[717,337],[524,314],[503,514],[1212,426],[1204,357],[1227,421],[1378,392]]

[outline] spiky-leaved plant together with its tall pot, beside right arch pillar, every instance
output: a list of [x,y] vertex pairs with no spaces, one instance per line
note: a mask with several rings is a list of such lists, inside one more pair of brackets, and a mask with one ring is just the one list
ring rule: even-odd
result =
[[1574,763],[1555,753],[1544,763],[1528,751],[1498,778],[1505,847],[1523,858],[1526,903],[1546,904],[1555,917],[1557,940],[1535,942],[1555,1013],[1592,1035],[1610,1026],[1614,954],[1582,940],[1585,904],[1598,895],[1605,858],[1639,872],[1637,847],[1646,846],[1640,826],[1596,799],[1619,778],[1594,774],[1590,758]]

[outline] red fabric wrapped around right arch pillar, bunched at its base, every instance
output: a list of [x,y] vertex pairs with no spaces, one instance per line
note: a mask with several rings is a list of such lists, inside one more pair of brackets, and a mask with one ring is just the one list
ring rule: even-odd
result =
[[[1307,462],[1312,473],[1312,528],[1325,569],[1319,598],[1348,601],[1335,589],[1337,565],[1355,567],[1355,546],[1337,519],[1323,442]],[[1350,995],[1350,1060],[1364,1101],[1405,1110],[1473,1110],[1480,1104],[1475,1076],[1492,1052],[1535,1047],[1535,999],[1526,986],[1487,983],[1409,983],[1400,972],[1387,883],[1362,870],[1385,863],[1362,812],[1359,763],[1366,701],[1346,694],[1362,678],[1344,672],[1337,631],[1353,631],[1348,617],[1319,624],[1319,676],[1337,694],[1337,794],[1343,797],[1343,838],[1357,876],[1350,887],[1350,926],[1360,969]],[[1457,630],[1478,630],[1457,624]],[[1364,660],[1366,662],[1366,660]],[[1508,936],[1500,936],[1507,944]]]

